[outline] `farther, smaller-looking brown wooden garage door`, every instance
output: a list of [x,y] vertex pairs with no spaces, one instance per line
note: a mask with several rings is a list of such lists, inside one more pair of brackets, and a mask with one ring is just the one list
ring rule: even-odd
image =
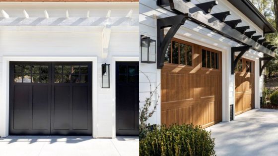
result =
[[242,58],[235,68],[235,115],[255,108],[254,64]]

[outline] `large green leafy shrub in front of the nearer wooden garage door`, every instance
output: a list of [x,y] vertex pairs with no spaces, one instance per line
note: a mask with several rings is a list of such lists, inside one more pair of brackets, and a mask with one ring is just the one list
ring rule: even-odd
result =
[[214,139],[200,126],[156,126],[139,141],[140,156],[215,156]]

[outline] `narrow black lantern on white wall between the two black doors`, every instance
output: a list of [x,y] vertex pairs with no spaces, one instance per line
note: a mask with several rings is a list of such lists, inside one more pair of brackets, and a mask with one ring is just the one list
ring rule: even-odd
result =
[[101,88],[110,88],[110,64],[101,65]]

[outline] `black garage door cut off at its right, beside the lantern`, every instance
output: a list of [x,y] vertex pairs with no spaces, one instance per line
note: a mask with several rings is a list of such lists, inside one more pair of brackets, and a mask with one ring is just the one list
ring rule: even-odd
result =
[[139,62],[116,62],[116,135],[139,135]]

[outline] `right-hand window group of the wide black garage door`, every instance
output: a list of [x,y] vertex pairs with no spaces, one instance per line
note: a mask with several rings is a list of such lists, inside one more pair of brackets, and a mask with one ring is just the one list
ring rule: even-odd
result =
[[55,65],[55,83],[87,83],[87,65]]

